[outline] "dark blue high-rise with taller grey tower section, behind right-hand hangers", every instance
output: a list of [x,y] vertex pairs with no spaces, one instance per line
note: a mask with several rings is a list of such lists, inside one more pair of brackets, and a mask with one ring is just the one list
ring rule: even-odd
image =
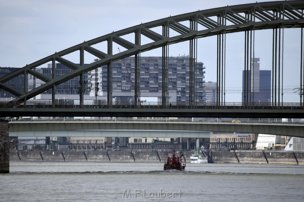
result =
[[[251,59],[250,70],[243,70],[242,102],[270,103],[271,99],[271,70],[260,70],[260,58]],[[245,78],[248,92],[245,92]]]

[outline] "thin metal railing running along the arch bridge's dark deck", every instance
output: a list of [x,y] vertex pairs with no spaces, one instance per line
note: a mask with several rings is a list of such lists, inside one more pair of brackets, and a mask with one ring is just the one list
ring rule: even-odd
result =
[[5,102],[0,101],[0,108],[71,108],[71,109],[303,109],[300,103],[288,102],[288,103],[242,103],[242,102],[171,102],[163,104],[162,102],[142,102],[139,105],[132,104],[130,102],[116,102],[114,104],[108,104],[108,102],[93,101],[84,102],[82,105],[79,102],[60,102],[52,104],[51,101],[13,101]]

